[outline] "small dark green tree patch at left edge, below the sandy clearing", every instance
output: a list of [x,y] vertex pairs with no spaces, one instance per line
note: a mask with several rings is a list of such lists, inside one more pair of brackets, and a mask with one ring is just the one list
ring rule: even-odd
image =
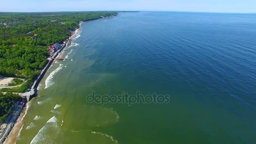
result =
[[11,112],[16,101],[20,101],[22,98],[13,93],[5,93],[3,94],[0,91],[0,123],[7,118],[8,113]]

